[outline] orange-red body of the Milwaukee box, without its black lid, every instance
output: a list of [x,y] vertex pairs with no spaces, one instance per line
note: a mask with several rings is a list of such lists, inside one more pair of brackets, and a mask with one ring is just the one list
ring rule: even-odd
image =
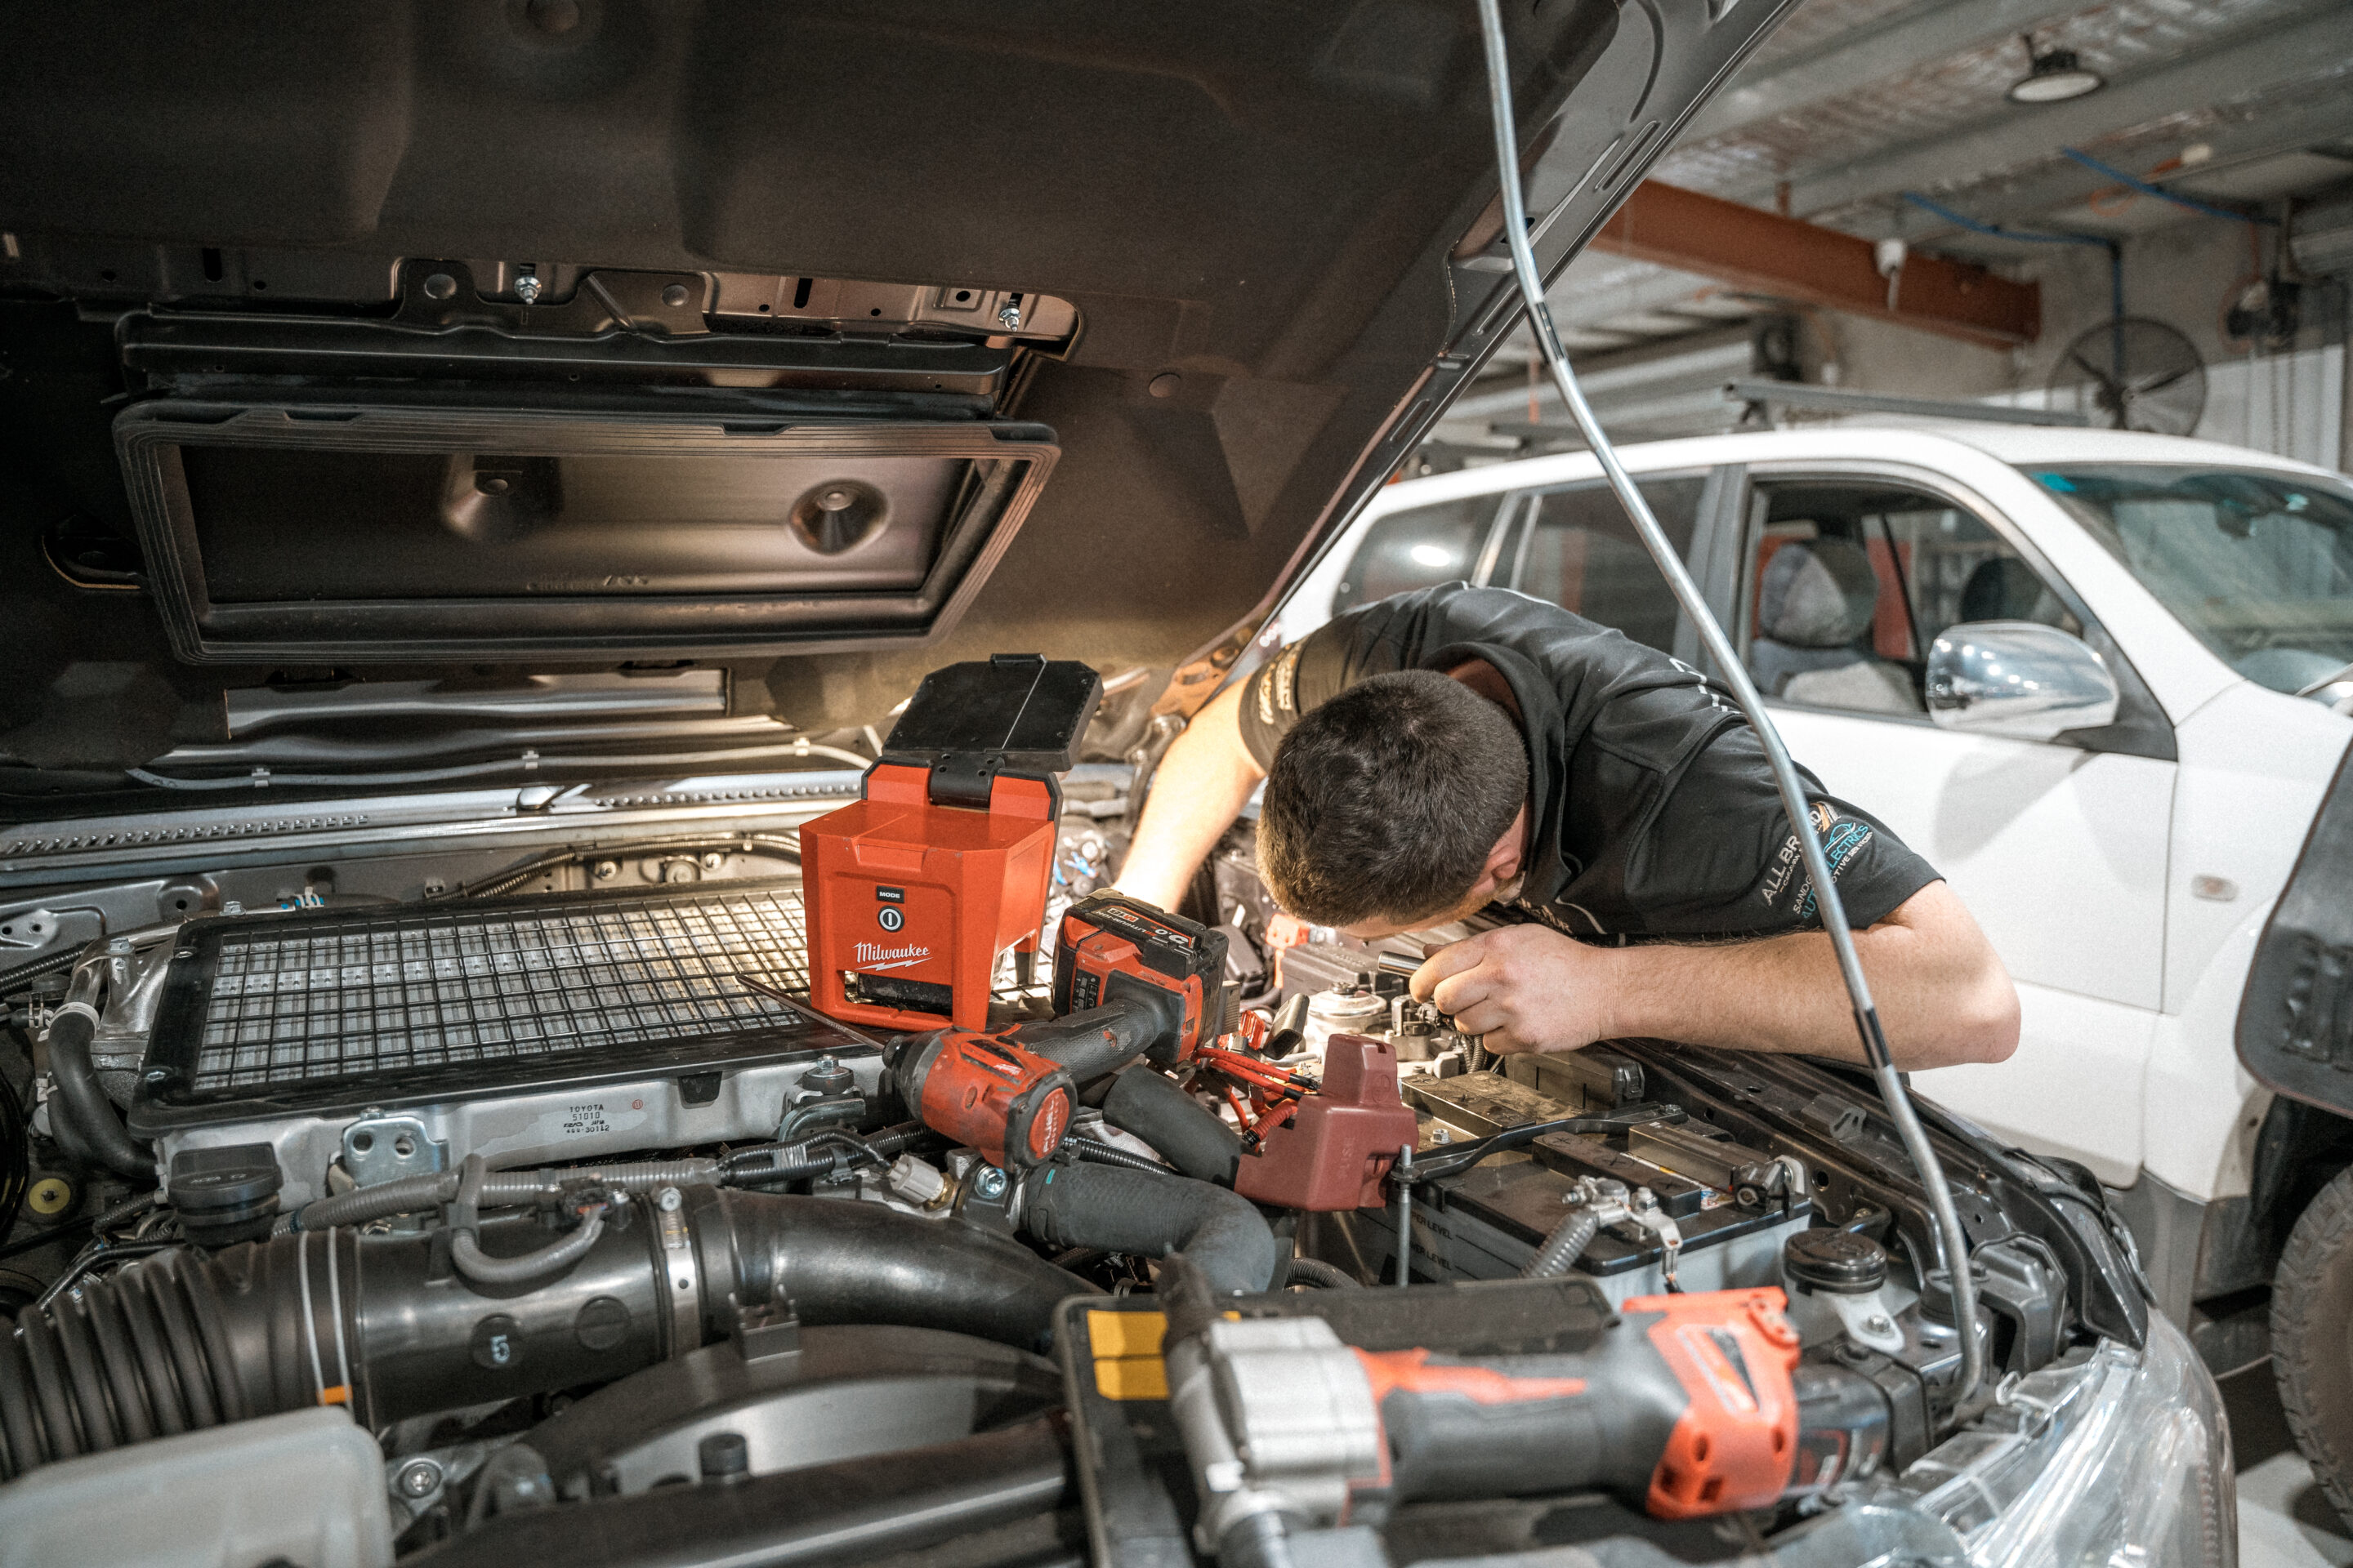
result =
[[875,764],[866,799],[800,830],[809,1001],[896,1030],[988,1023],[998,959],[1038,947],[1054,790],[995,778],[988,811],[936,806],[929,771]]

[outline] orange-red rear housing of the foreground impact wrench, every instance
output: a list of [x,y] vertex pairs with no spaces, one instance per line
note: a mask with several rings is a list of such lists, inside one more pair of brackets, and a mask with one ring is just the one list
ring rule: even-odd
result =
[[1649,1476],[1657,1519],[1772,1507],[1798,1458],[1798,1331],[1774,1288],[1635,1295],[1619,1312],[1657,1312],[1649,1342],[1689,1403]]

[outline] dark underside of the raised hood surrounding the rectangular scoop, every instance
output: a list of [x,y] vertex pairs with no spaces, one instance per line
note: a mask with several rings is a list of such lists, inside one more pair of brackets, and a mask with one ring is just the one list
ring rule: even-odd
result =
[[[1779,12],[1506,7],[1529,141],[1593,158],[1548,268]],[[108,423],[151,388],[115,320],[202,294],[198,256],[228,256],[231,310],[294,308],[261,294],[271,259],[416,256],[1071,301],[1075,343],[995,409],[1052,428],[1059,470],[953,635],[729,656],[736,712],[807,729],[1000,649],[1198,684],[1513,324],[1468,0],[40,7],[0,54],[0,134],[9,795],[221,741],[224,684],[271,675],[176,663],[144,592],[45,559],[132,536]]]

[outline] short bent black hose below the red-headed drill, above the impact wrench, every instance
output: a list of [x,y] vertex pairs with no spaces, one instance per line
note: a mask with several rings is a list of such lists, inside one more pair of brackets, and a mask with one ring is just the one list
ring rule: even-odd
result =
[[1021,1227],[1047,1246],[1184,1253],[1219,1295],[1266,1291],[1280,1265],[1275,1232],[1249,1199],[1184,1175],[1042,1166],[1024,1182],[1021,1204]]

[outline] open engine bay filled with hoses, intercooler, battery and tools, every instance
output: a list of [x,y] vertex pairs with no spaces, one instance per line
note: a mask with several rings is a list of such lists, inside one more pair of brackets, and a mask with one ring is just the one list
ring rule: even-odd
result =
[[1035,952],[969,1027],[809,1004],[840,773],[12,903],[64,940],[0,976],[0,1512],[40,1535],[125,1479],[202,1512],[285,1455],[315,1486],[221,1561],[1835,1559],[1960,1542],[2165,1349],[2097,1182],[1922,1107],[1960,1387],[1859,1072],[1487,1056],[1409,954],[1278,945],[1247,823],[1184,912],[1101,891],[1127,780],[1064,785]]

